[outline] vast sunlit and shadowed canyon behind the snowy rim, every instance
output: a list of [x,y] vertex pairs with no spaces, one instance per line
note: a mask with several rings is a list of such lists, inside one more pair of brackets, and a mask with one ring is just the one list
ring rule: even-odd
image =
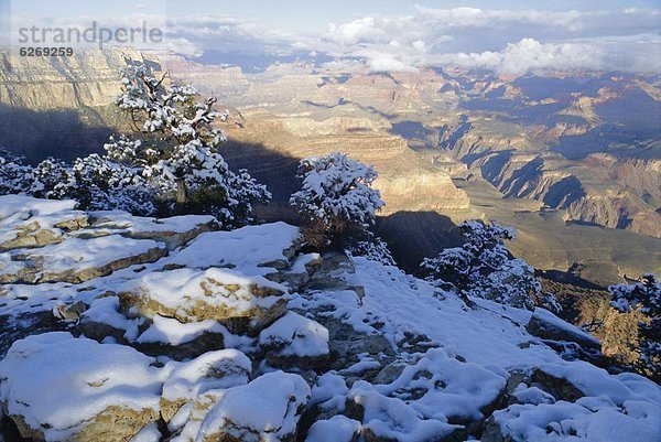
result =
[[378,228],[409,269],[456,244],[466,218],[514,226],[512,251],[541,270],[603,285],[661,269],[659,75],[248,69],[124,48],[0,57],[0,145],[30,161],[98,152],[128,131],[118,71],[147,63],[229,110],[223,154],[269,186],[267,220],[295,222],[300,159],[343,151],[379,172]]

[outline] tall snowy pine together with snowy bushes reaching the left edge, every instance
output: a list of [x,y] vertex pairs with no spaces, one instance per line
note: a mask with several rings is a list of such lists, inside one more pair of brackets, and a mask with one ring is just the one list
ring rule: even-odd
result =
[[122,209],[134,215],[215,215],[226,228],[253,220],[252,204],[271,194],[247,171],[235,173],[218,148],[225,142],[215,98],[198,101],[192,86],[166,86],[143,66],[123,71],[116,104],[131,116],[140,139],[111,137],[105,155],[72,165],[47,159],[35,168],[0,152],[0,194],[73,198],[83,209]]

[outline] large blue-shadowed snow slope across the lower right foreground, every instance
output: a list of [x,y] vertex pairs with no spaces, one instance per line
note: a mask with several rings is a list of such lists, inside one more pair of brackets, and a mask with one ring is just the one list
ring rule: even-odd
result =
[[[478,306],[469,309],[454,293],[441,292],[397,268],[362,258],[354,261],[356,272],[343,278],[347,285],[365,288],[362,300],[351,291],[324,291],[295,297],[290,308],[318,311],[317,314],[342,320],[357,331],[382,334],[393,348],[407,348],[401,344],[405,332],[426,336],[431,344],[442,347],[429,349],[388,385],[358,380],[347,394],[344,382],[334,378],[337,375],[321,379],[313,389],[313,400],[325,400],[327,408],[338,410],[345,396],[362,405],[364,433],[371,431],[400,441],[446,435],[453,430],[445,423],[448,418],[479,418],[481,407],[505,387],[508,371],[530,374],[539,368],[567,379],[586,397],[576,403],[556,402],[538,387],[520,385],[514,398],[529,403],[497,412],[513,440],[574,440],[567,429],[546,434],[548,424],[562,425],[564,420],[586,440],[637,440],[638,434],[640,441],[660,440],[661,388],[653,382],[633,374],[613,376],[581,360],[563,360],[525,331],[531,316],[527,310],[484,299],[476,299]],[[455,356],[462,356],[466,363]],[[431,375],[429,378],[418,376],[425,371]],[[433,388],[437,385],[443,387]],[[408,396],[412,391],[422,396]],[[594,411],[590,407],[596,402],[609,406]],[[610,419],[617,425],[611,425]]]

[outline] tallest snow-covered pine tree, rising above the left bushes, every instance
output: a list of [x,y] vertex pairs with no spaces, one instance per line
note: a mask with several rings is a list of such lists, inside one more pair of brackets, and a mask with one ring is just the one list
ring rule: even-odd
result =
[[252,222],[252,204],[267,203],[271,194],[247,171],[230,171],[220,155],[226,138],[214,122],[228,114],[214,109],[215,98],[198,101],[195,88],[166,86],[165,79],[143,65],[123,71],[116,104],[130,114],[143,139],[111,139],[108,157],[140,170],[171,209],[213,214],[226,227]]

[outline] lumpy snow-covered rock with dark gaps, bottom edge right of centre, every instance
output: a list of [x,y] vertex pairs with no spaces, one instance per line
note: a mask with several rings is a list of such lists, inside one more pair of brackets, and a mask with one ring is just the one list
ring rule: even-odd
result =
[[[456,423],[481,420],[502,395],[506,377],[507,373],[459,362],[443,348],[432,348],[391,384],[359,380],[347,397],[351,408],[359,410],[355,416],[362,416],[364,431],[376,438],[435,440],[462,430]],[[415,417],[418,423],[403,422],[401,416]],[[426,430],[420,432],[422,428]]]

